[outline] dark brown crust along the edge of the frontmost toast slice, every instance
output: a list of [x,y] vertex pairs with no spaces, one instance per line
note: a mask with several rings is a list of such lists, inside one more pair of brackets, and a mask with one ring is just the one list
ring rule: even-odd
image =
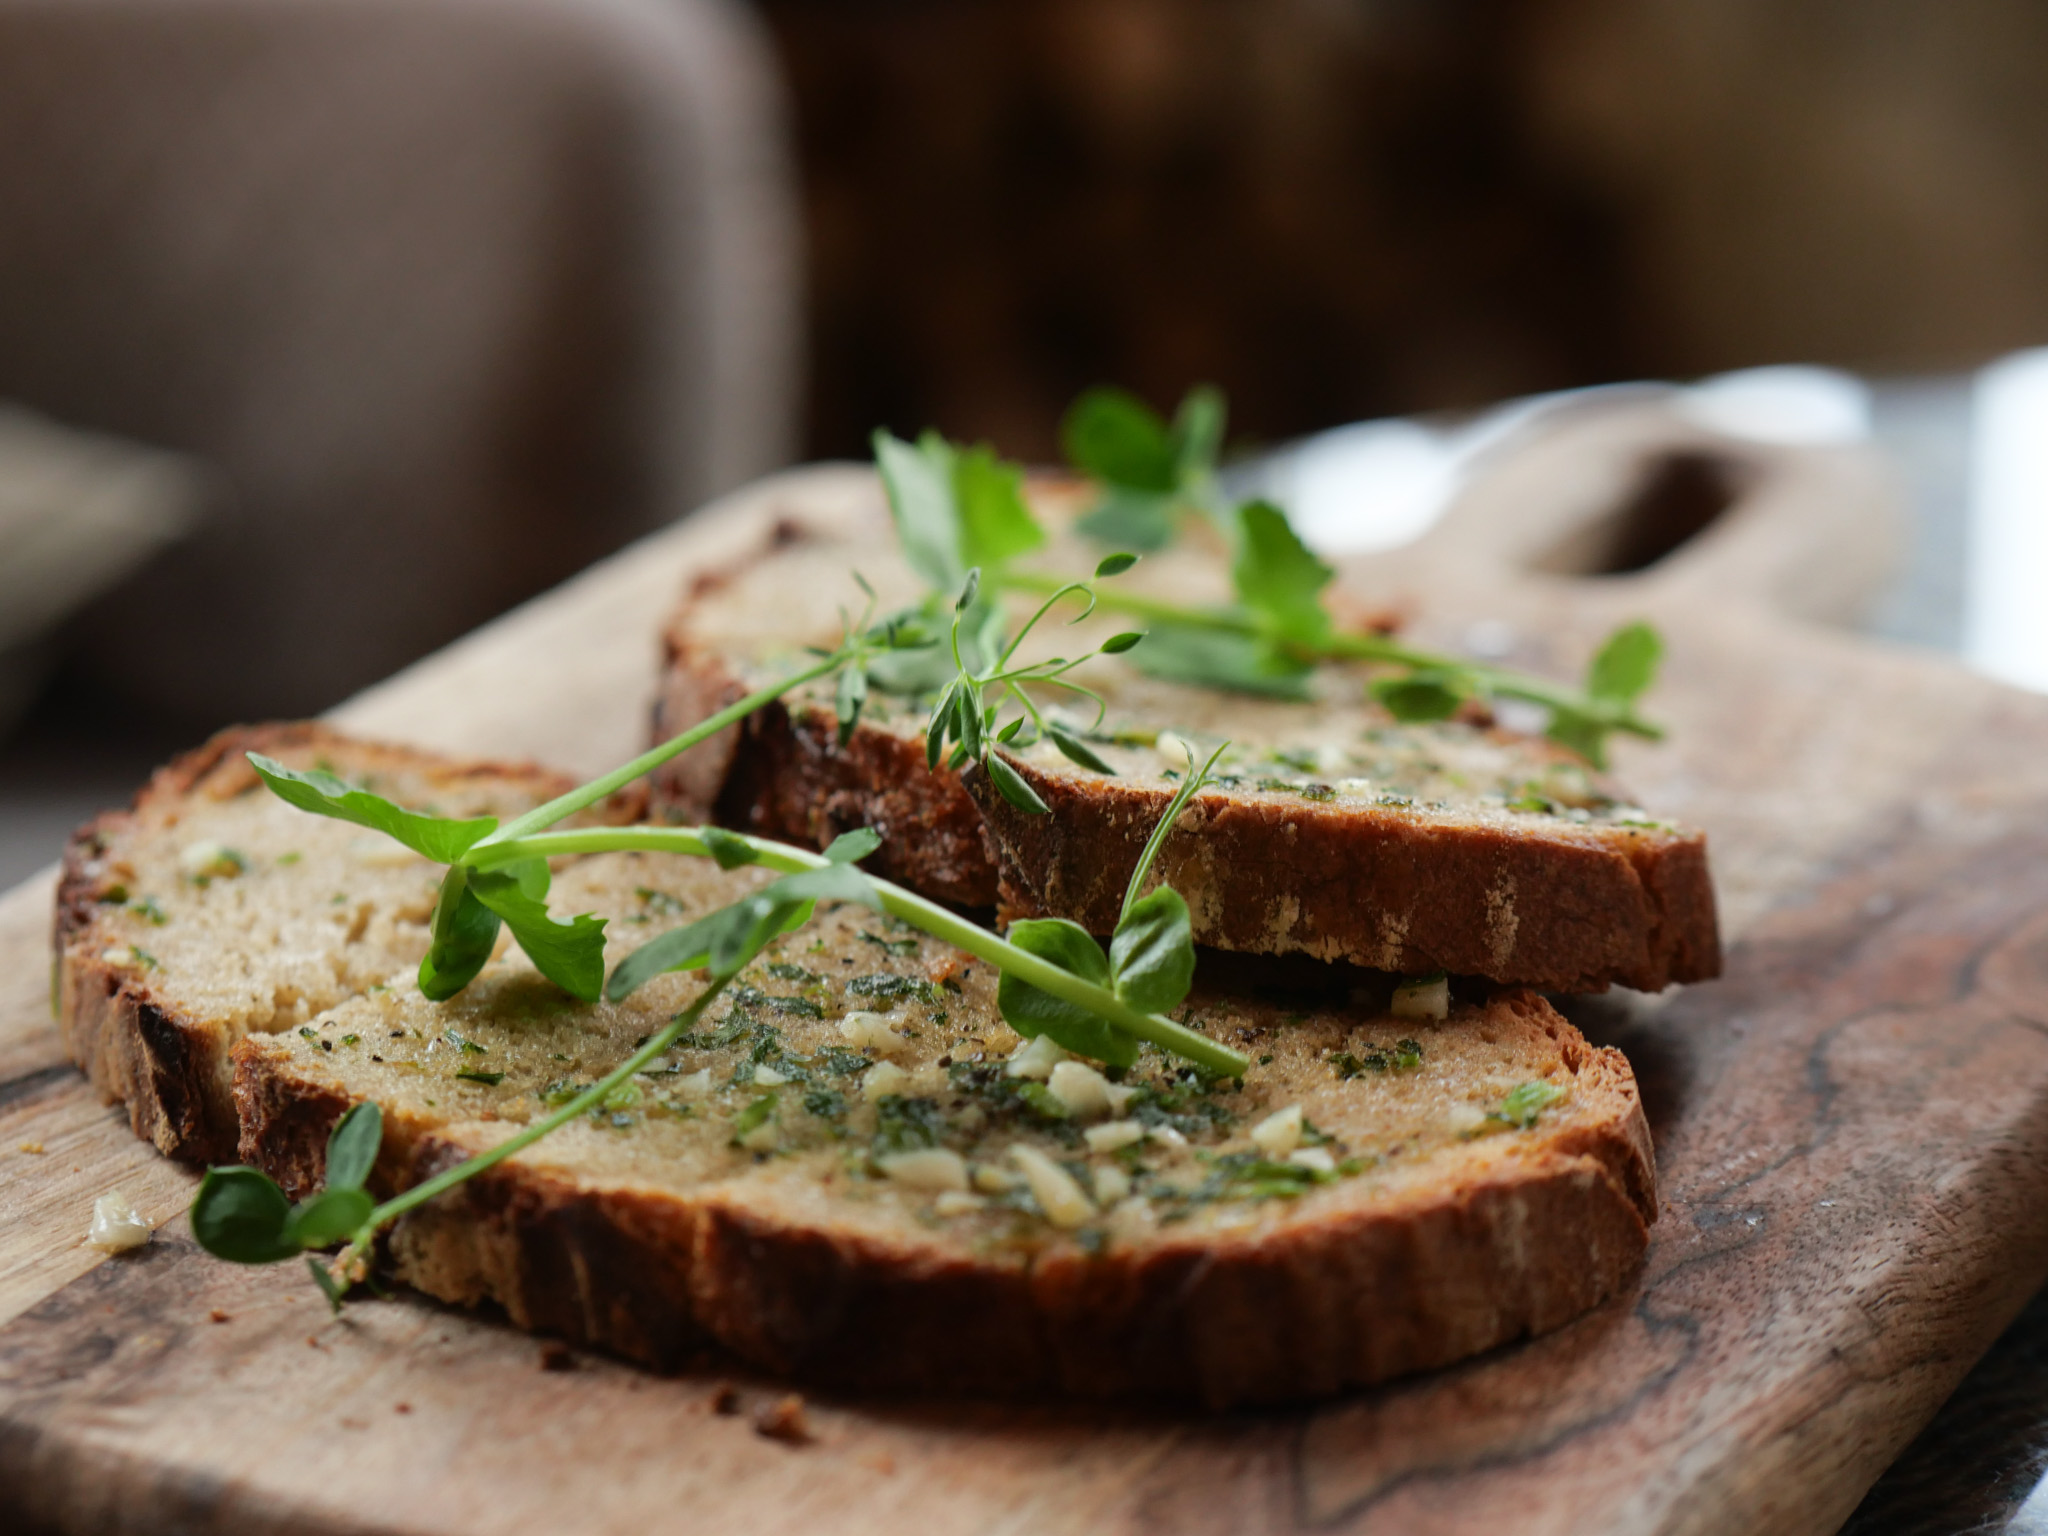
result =
[[[879,1239],[795,1219],[727,1186],[582,1188],[514,1159],[406,1217],[389,1260],[442,1300],[655,1366],[707,1341],[862,1391],[1163,1397],[1210,1407],[1323,1397],[1556,1327],[1620,1294],[1655,1219],[1649,1128],[1628,1063],[1532,993],[1597,1106],[1489,1143],[1466,1182],[1333,1200],[1255,1235],[1188,1233],[1034,1260]],[[242,1157],[317,1188],[346,1100],[281,1044],[236,1051]],[[387,1122],[375,1182],[406,1188],[465,1155]]]

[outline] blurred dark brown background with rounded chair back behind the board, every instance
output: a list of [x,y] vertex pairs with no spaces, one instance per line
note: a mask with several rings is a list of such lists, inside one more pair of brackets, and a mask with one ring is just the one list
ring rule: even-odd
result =
[[2044,86],[2038,0],[0,0],[0,885],[776,465],[1051,459],[1098,381],[1257,451],[1827,365],[1954,588]]

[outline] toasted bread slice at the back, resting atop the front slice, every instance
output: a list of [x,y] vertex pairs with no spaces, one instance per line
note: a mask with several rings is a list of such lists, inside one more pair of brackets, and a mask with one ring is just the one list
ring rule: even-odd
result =
[[[1063,549],[1049,563],[1085,561]],[[885,610],[918,592],[881,508],[852,526],[786,520],[756,559],[698,582],[666,633],[655,735],[795,670],[805,645],[834,643],[842,606],[860,606],[856,569]],[[1217,551],[1180,549],[1118,580],[1186,604],[1227,596],[1221,571]],[[1075,655],[1120,627],[1104,614],[1042,627],[1034,643]],[[1202,944],[1554,991],[1657,991],[1720,971],[1704,836],[1628,805],[1540,737],[1481,721],[1397,725],[1356,670],[1325,668],[1305,702],[1161,682],[1120,659],[1075,678],[1108,700],[1090,741],[1116,772],[1075,766],[1049,741],[1014,754],[1051,815],[1016,811],[973,768],[965,780],[930,772],[928,700],[870,694],[840,748],[829,682],[672,762],[653,803],[680,821],[717,815],[817,846],[872,825],[887,838],[879,866],[928,895],[1106,934],[1186,770],[1184,743],[1229,739],[1217,788],[1159,860]]]

